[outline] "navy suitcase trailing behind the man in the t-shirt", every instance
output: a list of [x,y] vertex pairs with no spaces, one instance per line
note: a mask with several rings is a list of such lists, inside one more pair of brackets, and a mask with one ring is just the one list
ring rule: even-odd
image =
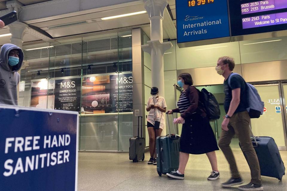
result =
[[255,137],[253,133],[251,139],[258,157],[261,175],[282,180],[285,175],[285,166],[274,139],[272,137]]

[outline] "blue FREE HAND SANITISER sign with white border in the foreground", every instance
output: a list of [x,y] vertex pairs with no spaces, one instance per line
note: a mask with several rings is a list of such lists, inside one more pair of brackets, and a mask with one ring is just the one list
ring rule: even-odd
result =
[[0,190],[77,190],[77,112],[2,105],[0,121]]

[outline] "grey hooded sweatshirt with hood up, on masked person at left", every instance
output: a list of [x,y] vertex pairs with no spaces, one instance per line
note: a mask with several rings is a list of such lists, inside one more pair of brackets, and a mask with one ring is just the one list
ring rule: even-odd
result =
[[[19,50],[19,63],[10,69],[8,55],[11,50]],[[21,48],[14,44],[4,44],[0,52],[0,104],[18,105],[17,85],[20,81],[18,71],[23,64],[24,54]]]

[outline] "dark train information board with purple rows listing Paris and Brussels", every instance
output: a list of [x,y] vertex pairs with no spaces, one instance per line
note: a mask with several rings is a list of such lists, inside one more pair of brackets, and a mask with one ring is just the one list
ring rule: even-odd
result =
[[287,30],[287,0],[229,0],[231,36]]

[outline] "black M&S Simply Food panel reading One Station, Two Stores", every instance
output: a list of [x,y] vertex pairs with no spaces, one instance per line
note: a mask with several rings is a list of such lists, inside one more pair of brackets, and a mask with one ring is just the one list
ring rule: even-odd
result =
[[81,78],[55,81],[55,110],[80,111]]

